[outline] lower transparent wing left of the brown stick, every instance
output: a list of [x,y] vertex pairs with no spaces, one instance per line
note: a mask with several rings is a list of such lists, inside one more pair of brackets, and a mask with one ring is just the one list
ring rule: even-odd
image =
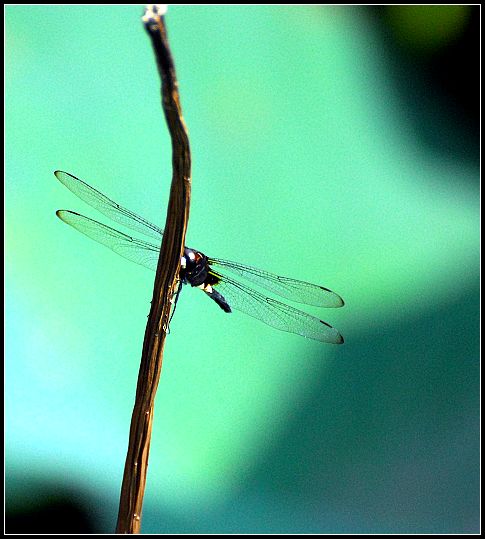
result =
[[59,210],[56,212],[56,215],[66,224],[79,230],[79,232],[82,232],[88,238],[101,243],[101,245],[105,245],[123,258],[156,271],[160,245],[157,247],[147,241],[132,238],[114,228],[98,223],[98,221],[94,221],[93,219],[89,219],[89,217],[73,211]]

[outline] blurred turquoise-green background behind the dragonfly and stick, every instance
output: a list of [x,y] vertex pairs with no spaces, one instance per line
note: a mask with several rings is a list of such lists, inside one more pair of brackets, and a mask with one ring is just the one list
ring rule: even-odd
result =
[[[141,14],[6,7],[7,531],[114,530],[154,274],[56,219],[107,222],[53,171],[163,225]],[[309,310],[346,342],[184,290],[144,532],[479,530],[478,64],[449,60],[478,44],[476,15],[170,7],[188,244],[337,291],[343,309]]]

